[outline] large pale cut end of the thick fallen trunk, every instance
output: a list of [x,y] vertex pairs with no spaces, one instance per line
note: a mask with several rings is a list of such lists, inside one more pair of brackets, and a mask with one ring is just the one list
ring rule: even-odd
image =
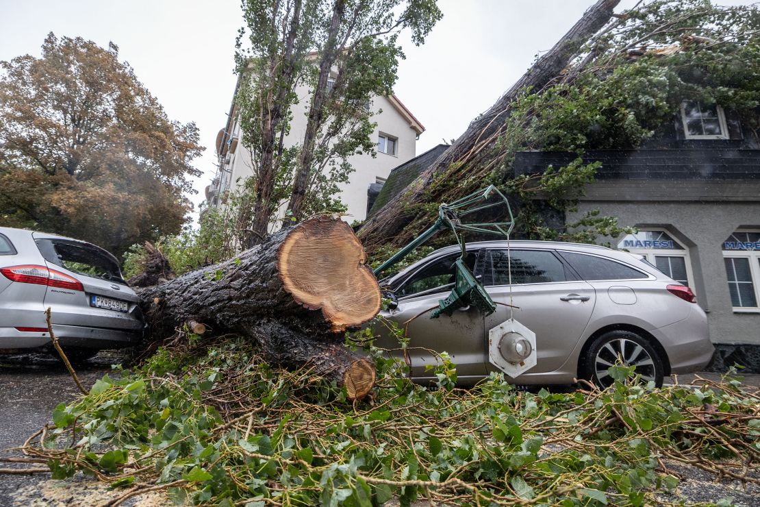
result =
[[380,289],[351,227],[339,217],[315,217],[288,234],[277,271],[288,293],[321,309],[334,331],[362,325],[380,311]]

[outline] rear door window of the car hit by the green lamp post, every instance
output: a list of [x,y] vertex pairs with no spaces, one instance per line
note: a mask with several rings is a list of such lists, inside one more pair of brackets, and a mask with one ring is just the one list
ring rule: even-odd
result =
[[562,261],[548,250],[489,250],[486,260],[486,286],[508,285],[510,267],[513,285],[546,284],[575,279],[572,274],[568,276]]

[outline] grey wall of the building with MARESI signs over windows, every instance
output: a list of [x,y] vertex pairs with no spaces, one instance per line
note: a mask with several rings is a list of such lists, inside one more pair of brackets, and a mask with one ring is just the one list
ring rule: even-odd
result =
[[[700,194],[697,183],[701,183],[701,200],[695,200]],[[622,226],[667,230],[689,250],[692,289],[698,304],[708,312],[711,340],[717,344],[760,344],[760,313],[732,309],[721,249],[737,229],[760,228],[760,183],[743,182],[743,189],[732,188],[739,195],[746,193],[746,199],[720,197],[734,185],[736,182],[678,180],[595,182],[589,185],[578,211],[568,213],[568,223],[599,209],[601,214],[618,217]],[[606,240],[613,245],[617,242]]]

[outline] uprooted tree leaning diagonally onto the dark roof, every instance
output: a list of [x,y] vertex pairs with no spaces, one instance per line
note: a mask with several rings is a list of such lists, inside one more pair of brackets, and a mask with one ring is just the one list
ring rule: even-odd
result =
[[[521,236],[593,241],[593,231],[583,230],[589,226],[615,236],[619,228],[610,217],[549,227],[542,208],[531,209],[531,199],[542,192],[557,211],[571,209],[597,167],[581,159],[584,151],[657,142],[683,100],[718,103],[755,122],[755,5],[654,0],[613,14],[617,3],[600,0],[589,8],[438,160],[363,224],[358,234],[371,257],[382,246],[404,245],[432,222],[430,203],[454,201],[484,183],[525,204],[516,216]],[[511,176],[518,151],[573,152],[578,160],[522,179]]]

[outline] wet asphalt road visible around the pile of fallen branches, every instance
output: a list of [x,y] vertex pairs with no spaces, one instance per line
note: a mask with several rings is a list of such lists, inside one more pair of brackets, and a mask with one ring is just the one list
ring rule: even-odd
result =
[[[85,388],[90,388],[97,379],[111,372],[111,364],[119,363],[115,353],[101,353],[86,366],[77,368],[77,373]],[[714,373],[701,374],[717,379]],[[688,384],[693,375],[681,375],[680,384]],[[746,375],[745,383],[760,387],[760,375]],[[55,405],[71,401],[78,395],[78,389],[68,371],[58,361],[43,356],[21,355],[0,356],[0,450],[22,445],[24,441],[51,419]],[[19,453],[2,453],[4,457]],[[0,464],[0,467],[14,467],[14,464]],[[26,466],[26,465],[24,465]],[[686,502],[717,502],[733,497],[735,505],[760,506],[760,486],[742,486],[739,483],[715,483],[710,474],[692,467],[670,465],[674,471],[688,477],[679,485],[679,499]],[[49,480],[49,474],[0,475],[0,506],[5,505],[94,505],[82,502],[82,490],[100,490],[95,493],[109,494],[105,485],[76,483],[73,486],[60,481]],[[76,490],[76,491],[74,491]],[[55,496],[54,495],[57,495]],[[92,498],[91,496],[88,498]],[[663,498],[663,500],[665,500]],[[668,498],[673,502],[676,498]],[[132,503],[132,502],[130,502]],[[140,505],[161,505],[163,502],[141,502]],[[422,504],[420,504],[422,505]],[[426,503],[424,505],[427,505]]]

